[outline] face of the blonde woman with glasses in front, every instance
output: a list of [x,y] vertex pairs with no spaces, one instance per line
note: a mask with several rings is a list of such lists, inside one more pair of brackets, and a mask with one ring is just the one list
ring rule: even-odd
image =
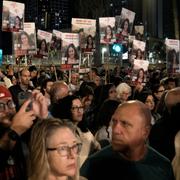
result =
[[50,175],[72,177],[76,174],[77,148],[67,149],[67,146],[75,147],[76,144],[77,139],[69,128],[59,128],[47,139],[48,148],[58,148],[48,151]]

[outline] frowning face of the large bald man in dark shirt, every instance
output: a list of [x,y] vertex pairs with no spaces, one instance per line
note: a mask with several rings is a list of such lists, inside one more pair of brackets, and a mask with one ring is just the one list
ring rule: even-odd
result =
[[122,153],[131,152],[147,138],[145,122],[137,106],[118,107],[112,116],[112,147]]

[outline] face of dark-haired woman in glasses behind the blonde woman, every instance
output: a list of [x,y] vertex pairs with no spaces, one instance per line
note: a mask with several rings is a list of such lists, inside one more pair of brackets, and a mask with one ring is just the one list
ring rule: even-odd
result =
[[72,101],[71,112],[72,112],[73,122],[79,123],[80,121],[82,121],[83,113],[84,113],[84,107],[83,107],[80,99],[74,99]]

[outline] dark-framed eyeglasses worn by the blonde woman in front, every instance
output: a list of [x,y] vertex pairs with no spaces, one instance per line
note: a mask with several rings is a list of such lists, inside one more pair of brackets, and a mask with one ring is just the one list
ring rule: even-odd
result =
[[70,153],[79,154],[81,152],[82,143],[77,143],[73,146],[60,146],[57,148],[47,148],[48,151],[57,151],[60,156],[68,156]]

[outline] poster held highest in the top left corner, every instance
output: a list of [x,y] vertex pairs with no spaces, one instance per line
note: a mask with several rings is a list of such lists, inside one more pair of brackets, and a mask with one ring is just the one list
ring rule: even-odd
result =
[[23,3],[3,1],[2,31],[17,32],[24,29]]

